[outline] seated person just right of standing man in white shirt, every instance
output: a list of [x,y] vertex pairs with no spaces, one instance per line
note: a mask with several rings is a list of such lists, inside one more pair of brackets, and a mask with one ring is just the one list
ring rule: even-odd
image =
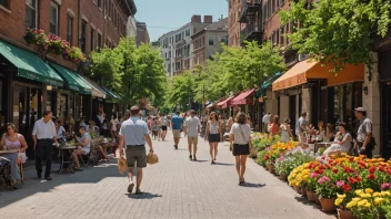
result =
[[76,137],[77,143],[74,144],[76,146],[79,146],[78,149],[76,149],[72,153],[72,157],[73,157],[73,165],[74,165],[74,170],[80,171],[80,163],[79,163],[79,155],[87,155],[90,153],[90,148],[91,148],[91,137],[90,134],[87,133],[86,127],[81,126],[79,128],[79,133],[81,135],[81,137]]

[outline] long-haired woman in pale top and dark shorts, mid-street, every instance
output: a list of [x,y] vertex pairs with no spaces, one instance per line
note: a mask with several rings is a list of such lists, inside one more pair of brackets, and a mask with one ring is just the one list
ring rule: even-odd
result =
[[212,158],[211,164],[215,164],[215,157],[218,156],[218,145],[222,139],[221,123],[215,112],[210,113],[210,119],[207,123],[205,140],[209,142],[210,156]]

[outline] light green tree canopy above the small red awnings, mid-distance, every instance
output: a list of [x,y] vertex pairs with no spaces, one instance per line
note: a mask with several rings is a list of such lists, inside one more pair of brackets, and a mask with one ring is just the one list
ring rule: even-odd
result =
[[[247,42],[245,48],[222,45],[222,52],[208,60],[205,66],[173,77],[168,101],[188,103],[188,95],[199,103],[227,97],[230,93],[259,86],[275,72],[285,70],[280,48],[271,42],[259,45]],[[184,83],[186,82],[186,83]],[[189,91],[189,87],[193,87]]]

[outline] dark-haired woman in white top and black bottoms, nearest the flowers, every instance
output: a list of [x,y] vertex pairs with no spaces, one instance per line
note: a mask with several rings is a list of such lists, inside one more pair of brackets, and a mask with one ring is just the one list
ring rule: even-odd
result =
[[245,160],[251,146],[251,128],[245,122],[245,114],[238,113],[237,123],[232,125],[230,134],[230,150],[235,158],[239,186],[244,185]]

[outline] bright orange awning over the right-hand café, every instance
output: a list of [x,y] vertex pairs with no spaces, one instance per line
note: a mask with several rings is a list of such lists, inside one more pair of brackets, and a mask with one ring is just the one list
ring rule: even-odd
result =
[[328,86],[364,81],[364,64],[347,64],[337,75],[330,72],[332,69],[334,69],[332,64],[321,65],[319,62],[301,61],[275,80],[272,90],[280,91],[298,86],[311,79],[325,79]]

